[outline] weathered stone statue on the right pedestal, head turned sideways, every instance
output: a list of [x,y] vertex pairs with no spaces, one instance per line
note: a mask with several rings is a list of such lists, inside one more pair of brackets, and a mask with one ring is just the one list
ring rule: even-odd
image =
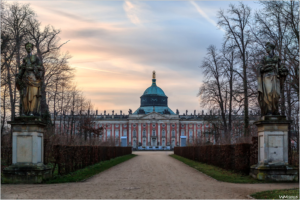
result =
[[265,44],[268,55],[261,58],[257,69],[257,93],[260,115],[280,115],[278,102],[280,91],[283,87],[289,70],[281,65],[280,58],[274,55],[275,45]]

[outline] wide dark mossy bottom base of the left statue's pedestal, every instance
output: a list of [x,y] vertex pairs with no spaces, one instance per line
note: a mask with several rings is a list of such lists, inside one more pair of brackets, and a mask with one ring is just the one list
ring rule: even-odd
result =
[[51,177],[51,167],[44,163],[14,163],[4,169],[1,183],[41,183]]

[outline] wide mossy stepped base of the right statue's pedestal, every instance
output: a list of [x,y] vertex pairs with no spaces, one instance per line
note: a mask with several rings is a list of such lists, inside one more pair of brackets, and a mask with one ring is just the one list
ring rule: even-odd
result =
[[262,181],[298,181],[297,168],[288,163],[259,162],[250,167],[250,176]]

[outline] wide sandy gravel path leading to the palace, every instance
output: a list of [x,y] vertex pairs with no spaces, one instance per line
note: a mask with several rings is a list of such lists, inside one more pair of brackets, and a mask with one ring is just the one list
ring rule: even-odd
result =
[[79,183],[1,184],[1,199],[249,199],[263,190],[299,187],[223,183],[168,156],[173,151],[133,153],[138,156]]

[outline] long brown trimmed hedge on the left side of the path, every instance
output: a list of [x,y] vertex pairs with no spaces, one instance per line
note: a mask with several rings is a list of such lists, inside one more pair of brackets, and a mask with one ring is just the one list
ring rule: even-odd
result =
[[55,161],[52,173],[56,165],[58,174],[64,175],[104,160],[131,153],[131,147],[53,145],[52,156]]

